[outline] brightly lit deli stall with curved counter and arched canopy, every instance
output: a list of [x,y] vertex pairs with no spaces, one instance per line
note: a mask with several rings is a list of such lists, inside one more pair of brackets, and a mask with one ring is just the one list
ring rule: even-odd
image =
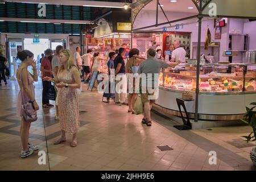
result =
[[[238,36],[238,39],[232,36],[243,35],[246,31],[243,24],[249,22],[248,18],[256,18],[255,11],[251,9],[251,6],[256,6],[256,3],[229,0],[225,2],[217,0],[179,1],[167,7],[169,12],[159,16],[158,8],[166,7],[165,3],[170,3],[170,1],[138,1],[135,3],[132,10],[133,33],[160,31],[163,28],[167,28],[167,31],[174,31],[177,25],[182,24],[183,28],[175,29],[175,31],[191,32],[192,53],[189,58],[192,60],[188,59],[183,69],[165,69],[160,73],[159,98],[156,100],[155,109],[167,114],[180,115],[176,98],[193,96],[195,100],[190,99],[190,102],[185,102],[185,107],[195,121],[243,118],[246,106],[249,106],[256,98],[255,81],[250,81],[251,78],[256,77],[256,62],[248,61],[245,57],[246,51],[255,48],[249,46],[246,36]],[[211,10],[209,3],[215,3],[217,6],[216,17],[209,17]],[[231,3],[232,10],[228,9]],[[239,8],[241,6],[245,8],[241,10]],[[190,8],[187,9],[187,7]],[[245,10],[247,11],[243,12]],[[154,15],[156,23],[152,18]],[[166,16],[170,19],[166,20]],[[232,19],[232,16],[242,20]],[[142,24],[145,17],[152,21]],[[225,26],[222,27],[221,32],[222,23],[220,22],[222,20],[225,20]],[[251,35],[246,35],[254,39],[254,34],[253,32]],[[242,37],[245,39],[240,39]],[[238,44],[235,45],[234,42]],[[202,53],[205,56],[210,53],[214,61],[209,61],[208,58],[202,56]]]

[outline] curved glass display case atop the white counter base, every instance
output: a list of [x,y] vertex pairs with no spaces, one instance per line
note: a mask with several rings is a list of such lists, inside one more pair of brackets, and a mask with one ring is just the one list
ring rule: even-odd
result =
[[[256,64],[201,64],[200,92],[256,92]],[[196,64],[185,68],[162,69],[159,86],[194,91],[196,89]]]

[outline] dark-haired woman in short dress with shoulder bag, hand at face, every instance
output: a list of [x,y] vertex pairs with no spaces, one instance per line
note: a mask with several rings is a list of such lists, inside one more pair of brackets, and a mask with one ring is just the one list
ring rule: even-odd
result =
[[[17,57],[22,61],[17,70],[17,80],[20,87],[18,101],[17,101],[17,114],[22,117],[20,125],[20,139],[22,143],[21,158],[26,158],[38,150],[38,146],[33,146],[28,142],[29,130],[31,122],[36,121],[36,110],[39,106],[35,101],[35,87],[34,81],[38,81],[38,72],[36,71],[36,61],[34,55],[28,50],[23,50],[17,53]],[[28,72],[27,67],[31,65],[34,75]]]

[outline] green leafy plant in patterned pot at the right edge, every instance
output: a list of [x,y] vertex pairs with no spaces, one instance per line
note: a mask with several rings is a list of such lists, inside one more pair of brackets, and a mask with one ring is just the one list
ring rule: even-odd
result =
[[[255,142],[255,134],[256,134],[256,111],[253,109],[256,107],[256,102],[252,102],[250,105],[254,105],[253,107],[249,108],[246,107],[246,115],[245,119],[241,119],[242,122],[246,123],[247,125],[253,128],[253,131],[248,136],[243,136],[246,139],[246,142]],[[256,166],[256,146],[251,148],[250,151],[250,158],[253,161],[254,166]]]

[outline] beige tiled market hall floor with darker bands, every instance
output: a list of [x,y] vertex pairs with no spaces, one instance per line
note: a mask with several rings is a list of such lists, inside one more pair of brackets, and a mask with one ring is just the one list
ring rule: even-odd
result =
[[[36,83],[41,103],[42,82]],[[19,117],[15,114],[19,88],[15,81],[0,88],[0,170],[256,170],[250,161],[251,146],[232,145],[250,127],[217,127],[212,130],[176,130],[176,123],[152,113],[152,127],[141,125],[142,115],[127,113],[127,106],[101,101],[102,95],[83,85],[80,96],[78,146],[53,145],[60,134],[55,109],[38,111],[30,140],[46,152],[46,165],[39,165],[38,152],[20,159]],[[174,150],[160,151],[168,145]],[[209,151],[216,151],[217,164],[209,164]]]

